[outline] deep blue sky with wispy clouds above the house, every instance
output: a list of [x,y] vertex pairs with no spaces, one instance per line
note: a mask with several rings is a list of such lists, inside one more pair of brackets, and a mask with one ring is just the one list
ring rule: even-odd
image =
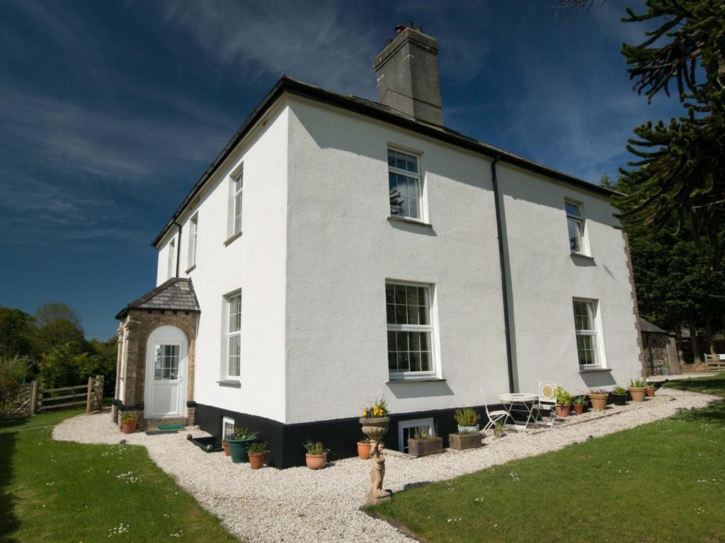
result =
[[[441,46],[446,125],[597,182],[631,128],[678,113],[632,90],[608,0],[0,2],[0,306],[78,309],[89,337],[154,286],[154,236],[282,72],[376,98],[412,19]],[[597,3],[598,4],[598,3]]]

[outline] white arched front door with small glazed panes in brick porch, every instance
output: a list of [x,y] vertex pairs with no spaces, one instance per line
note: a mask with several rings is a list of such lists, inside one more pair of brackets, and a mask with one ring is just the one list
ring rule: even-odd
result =
[[146,418],[181,417],[186,400],[186,335],[159,327],[146,343]]

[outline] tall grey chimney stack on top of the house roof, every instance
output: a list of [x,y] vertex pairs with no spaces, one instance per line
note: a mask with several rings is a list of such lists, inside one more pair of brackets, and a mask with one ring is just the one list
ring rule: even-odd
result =
[[378,77],[378,102],[434,125],[443,125],[438,76],[438,42],[413,28],[413,21],[395,27],[373,68]]

